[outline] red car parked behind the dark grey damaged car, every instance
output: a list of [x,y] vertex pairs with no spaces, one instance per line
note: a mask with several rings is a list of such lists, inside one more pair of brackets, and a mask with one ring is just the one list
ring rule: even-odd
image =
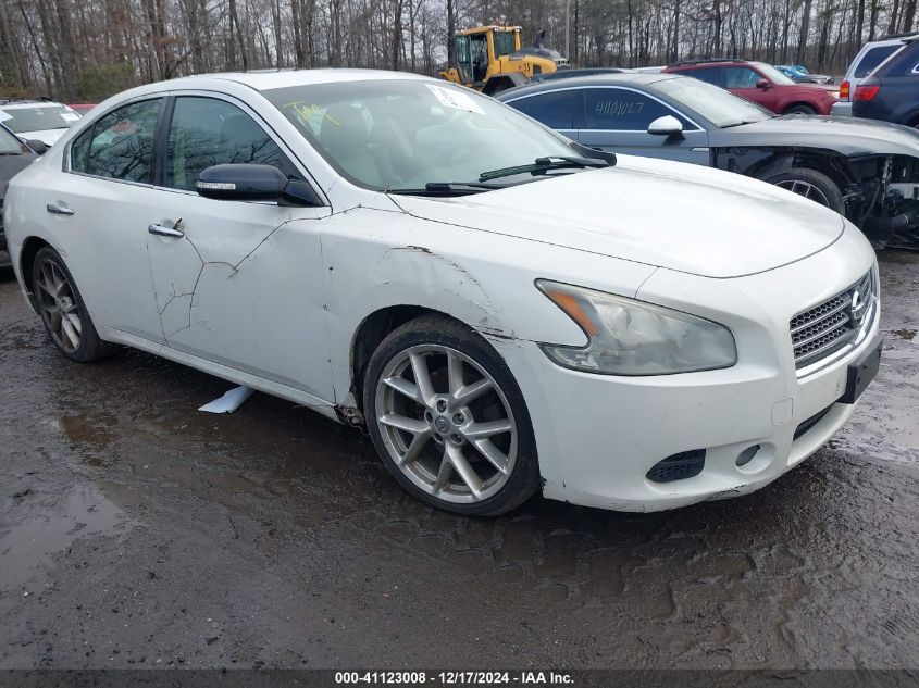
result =
[[726,88],[775,114],[830,114],[840,99],[834,86],[796,84],[771,64],[746,60],[697,60],[672,64],[665,72],[693,76]]

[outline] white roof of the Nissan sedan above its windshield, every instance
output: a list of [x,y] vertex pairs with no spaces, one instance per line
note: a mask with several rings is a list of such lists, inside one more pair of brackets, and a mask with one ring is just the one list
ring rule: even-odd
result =
[[311,84],[333,84],[338,82],[382,82],[393,79],[434,80],[431,77],[408,72],[387,72],[384,70],[256,70],[251,72],[220,72],[215,74],[198,74],[185,76],[170,82],[160,82],[162,88],[195,88],[203,80],[226,80],[244,84],[258,91],[286,88],[288,86],[306,86]]

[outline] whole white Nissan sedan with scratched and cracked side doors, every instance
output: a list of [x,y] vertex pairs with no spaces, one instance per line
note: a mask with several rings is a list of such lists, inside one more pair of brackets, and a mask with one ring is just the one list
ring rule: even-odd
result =
[[874,253],[840,215],[407,74],[126,91],[15,177],[5,222],[65,356],[135,347],[365,425],[464,514],[749,492],[880,358]]

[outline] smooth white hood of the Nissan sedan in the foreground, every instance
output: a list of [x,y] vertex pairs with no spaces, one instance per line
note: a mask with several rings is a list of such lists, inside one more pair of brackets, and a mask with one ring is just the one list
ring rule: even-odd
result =
[[802,260],[844,230],[836,213],[766,183],[632,155],[497,191],[395,200],[448,225],[720,278]]

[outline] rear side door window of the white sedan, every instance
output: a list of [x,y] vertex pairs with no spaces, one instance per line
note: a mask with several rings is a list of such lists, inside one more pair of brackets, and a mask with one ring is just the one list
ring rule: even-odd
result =
[[161,99],[110,112],[73,143],[71,168],[99,177],[148,182]]

